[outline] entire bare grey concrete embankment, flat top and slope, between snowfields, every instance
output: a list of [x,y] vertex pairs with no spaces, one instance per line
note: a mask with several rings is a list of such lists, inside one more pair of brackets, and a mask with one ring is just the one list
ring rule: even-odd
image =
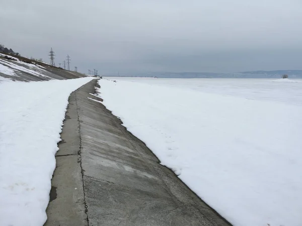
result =
[[89,94],[95,86],[70,95],[45,225],[230,225]]

